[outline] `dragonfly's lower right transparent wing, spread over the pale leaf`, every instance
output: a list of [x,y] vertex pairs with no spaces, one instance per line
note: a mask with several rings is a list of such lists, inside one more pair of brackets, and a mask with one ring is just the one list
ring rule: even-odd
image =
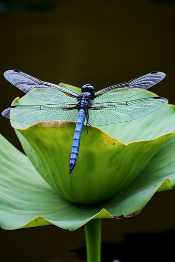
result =
[[131,121],[143,117],[167,103],[168,100],[166,98],[150,97],[128,102],[96,104],[88,108],[88,123],[98,126]]

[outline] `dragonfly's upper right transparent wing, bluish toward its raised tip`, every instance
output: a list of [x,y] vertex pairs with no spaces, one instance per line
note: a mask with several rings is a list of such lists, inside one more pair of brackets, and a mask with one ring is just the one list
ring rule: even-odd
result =
[[159,83],[165,78],[166,74],[163,72],[151,72],[144,74],[144,76],[135,78],[129,82],[109,86],[95,93],[97,96],[92,100],[92,103],[102,103],[108,101],[117,101],[133,97],[138,93],[150,88]]

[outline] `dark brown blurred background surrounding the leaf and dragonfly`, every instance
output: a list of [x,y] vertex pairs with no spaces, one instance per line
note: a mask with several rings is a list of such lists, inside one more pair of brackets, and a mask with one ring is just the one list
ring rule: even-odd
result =
[[[8,69],[56,84],[91,83],[96,90],[160,70],[167,76],[151,91],[174,104],[174,6],[151,0],[0,1],[1,111],[24,95],[4,79]],[[1,116],[0,125],[22,150],[9,120]],[[174,196],[156,193],[134,218],[103,219],[102,251],[108,256],[103,253],[102,261],[171,261]],[[1,229],[0,245],[3,262],[83,261],[85,239],[83,227]]]

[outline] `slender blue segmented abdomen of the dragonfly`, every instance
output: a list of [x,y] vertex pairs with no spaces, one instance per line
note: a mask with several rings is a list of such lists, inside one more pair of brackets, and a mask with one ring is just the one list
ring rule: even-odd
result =
[[82,133],[85,117],[86,117],[85,110],[81,108],[78,112],[77,123],[75,127],[75,132],[74,132],[71,159],[69,162],[69,174],[72,173],[75,167],[76,161],[77,161],[78,151],[80,147],[81,133]]

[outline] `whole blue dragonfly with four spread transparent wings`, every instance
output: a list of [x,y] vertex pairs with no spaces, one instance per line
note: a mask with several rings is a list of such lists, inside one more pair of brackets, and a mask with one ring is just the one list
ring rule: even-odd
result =
[[70,126],[76,122],[69,162],[71,174],[77,161],[85,118],[87,129],[87,124],[100,126],[131,121],[161,108],[168,103],[166,98],[149,97],[127,102],[118,100],[137,95],[159,83],[165,76],[163,72],[150,72],[97,92],[92,85],[85,84],[81,87],[82,93],[78,95],[65,87],[41,81],[22,71],[8,70],[4,73],[4,77],[11,84],[28,95],[50,101],[51,104],[10,106],[2,112],[2,115],[17,122],[37,126],[43,126],[41,124],[43,121],[47,123],[57,120],[58,127]]

